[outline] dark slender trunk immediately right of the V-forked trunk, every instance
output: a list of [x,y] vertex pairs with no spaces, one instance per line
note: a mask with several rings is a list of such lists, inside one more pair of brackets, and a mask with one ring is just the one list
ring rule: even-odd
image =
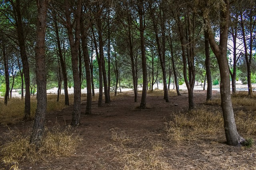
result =
[[90,74],[90,57],[88,52],[88,45],[87,45],[87,30],[84,28],[84,21],[83,16],[81,16],[80,22],[81,34],[82,34],[82,49],[83,49],[83,56],[84,56],[84,66],[86,71],[86,114],[92,113],[92,86],[91,86],[91,74]]

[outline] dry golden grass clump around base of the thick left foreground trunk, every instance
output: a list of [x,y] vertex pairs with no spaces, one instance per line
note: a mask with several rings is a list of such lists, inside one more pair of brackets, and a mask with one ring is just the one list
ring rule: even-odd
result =
[[52,131],[46,129],[39,148],[30,144],[29,135],[24,135],[18,130],[9,131],[5,135],[9,142],[0,147],[0,161],[5,166],[12,166],[13,169],[18,169],[18,162],[21,161],[47,161],[53,157],[73,155],[82,141],[78,133],[74,133],[70,126],[64,130],[59,127],[55,127]]

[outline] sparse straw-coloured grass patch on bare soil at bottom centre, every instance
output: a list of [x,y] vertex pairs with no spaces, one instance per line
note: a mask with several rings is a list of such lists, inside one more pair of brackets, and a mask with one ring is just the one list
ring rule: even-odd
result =
[[113,144],[110,150],[116,155],[114,160],[122,164],[124,170],[166,170],[169,169],[162,158],[164,148],[161,143],[144,136],[138,138],[121,129],[110,129]]

